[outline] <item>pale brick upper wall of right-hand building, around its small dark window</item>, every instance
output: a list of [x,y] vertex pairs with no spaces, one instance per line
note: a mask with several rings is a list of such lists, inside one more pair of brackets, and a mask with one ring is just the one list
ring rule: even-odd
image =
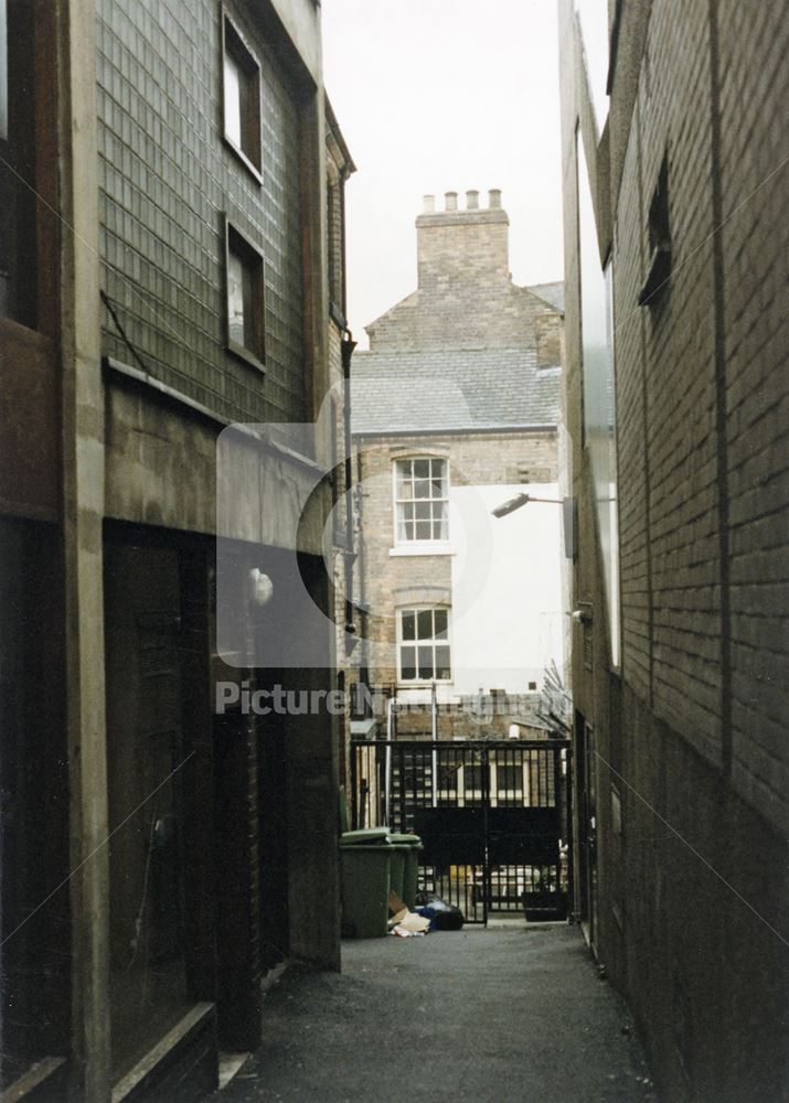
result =
[[[769,174],[786,31],[772,18],[738,6],[714,21],[701,6],[653,11],[649,76],[620,154],[615,296],[623,674],[712,762],[731,759],[740,792],[781,818],[786,232],[776,233],[780,173]],[[664,154],[674,271],[638,308]]]

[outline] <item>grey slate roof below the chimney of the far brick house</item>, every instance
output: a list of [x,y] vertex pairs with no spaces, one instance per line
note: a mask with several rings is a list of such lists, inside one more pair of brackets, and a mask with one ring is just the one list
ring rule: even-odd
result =
[[533,351],[462,349],[356,352],[351,366],[355,435],[554,426],[561,372]]

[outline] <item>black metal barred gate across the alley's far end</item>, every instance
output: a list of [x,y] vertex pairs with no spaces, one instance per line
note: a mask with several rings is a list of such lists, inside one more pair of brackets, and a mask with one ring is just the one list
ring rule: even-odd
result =
[[567,913],[569,740],[359,741],[352,826],[422,836],[419,887],[467,922]]

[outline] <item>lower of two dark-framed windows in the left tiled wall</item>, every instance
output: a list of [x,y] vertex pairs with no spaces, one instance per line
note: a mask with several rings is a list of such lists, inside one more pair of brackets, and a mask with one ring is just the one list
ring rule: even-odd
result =
[[231,223],[226,234],[227,347],[255,367],[266,360],[263,255]]

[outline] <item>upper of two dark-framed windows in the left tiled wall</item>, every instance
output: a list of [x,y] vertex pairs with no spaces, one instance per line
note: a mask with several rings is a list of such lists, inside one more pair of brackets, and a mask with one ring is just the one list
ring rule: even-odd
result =
[[260,175],[260,66],[230,19],[223,20],[225,139]]

